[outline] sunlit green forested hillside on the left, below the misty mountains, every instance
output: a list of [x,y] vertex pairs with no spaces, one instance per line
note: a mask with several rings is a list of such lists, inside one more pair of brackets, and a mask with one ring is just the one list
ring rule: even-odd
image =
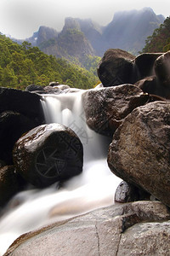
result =
[[86,69],[46,55],[26,41],[20,45],[0,34],[0,86],[24,90],[29,84],[48,85],[51,81],[88,89],[98,79]]

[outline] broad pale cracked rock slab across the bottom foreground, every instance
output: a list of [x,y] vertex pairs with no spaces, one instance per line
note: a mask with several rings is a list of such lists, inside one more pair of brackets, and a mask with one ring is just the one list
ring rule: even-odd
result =
[[118,204],[20,236],[4,256],[26,253],[167,256],[169,218],[167,207],[159,201]]

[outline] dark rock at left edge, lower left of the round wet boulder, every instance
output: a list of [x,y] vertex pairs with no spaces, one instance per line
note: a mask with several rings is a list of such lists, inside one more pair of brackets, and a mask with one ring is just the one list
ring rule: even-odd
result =
[[14,166],[0,168],[0,207],[25,186],[23,179],[15,172]]

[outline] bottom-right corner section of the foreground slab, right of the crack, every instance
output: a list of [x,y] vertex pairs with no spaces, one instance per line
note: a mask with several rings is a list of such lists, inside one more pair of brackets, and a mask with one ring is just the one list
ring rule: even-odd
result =
[[169,221],[136,224],[122,234],[117,256],[167,256],[169,240]]

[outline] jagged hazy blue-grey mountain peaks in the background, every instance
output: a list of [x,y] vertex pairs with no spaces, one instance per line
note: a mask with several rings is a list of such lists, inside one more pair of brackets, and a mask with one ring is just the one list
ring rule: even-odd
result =
[[93,20],[65,18],[61,32],[40,26],[26,41],[48,55],[68,60],[77,58],[80,62],[85,55],[102,56],[110,48],[138,55],[144,48],[146,38],[164,20],[163,15],[156,15],[150,8],[117,12],[107,26],[99,26]]

